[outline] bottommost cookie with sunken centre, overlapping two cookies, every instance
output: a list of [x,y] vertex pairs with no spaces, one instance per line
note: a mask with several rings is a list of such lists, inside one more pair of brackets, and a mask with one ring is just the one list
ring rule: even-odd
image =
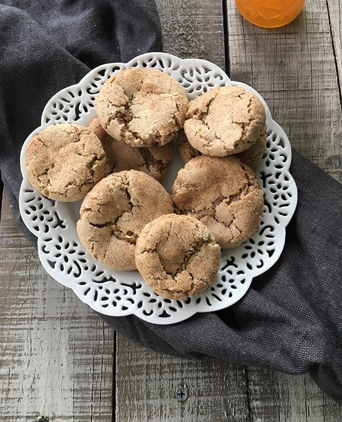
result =
[[196,218],[167,214],[141,231],[135,262],[152,290],[170,299],[198,295],[213,282],[221,250],[208,228]]

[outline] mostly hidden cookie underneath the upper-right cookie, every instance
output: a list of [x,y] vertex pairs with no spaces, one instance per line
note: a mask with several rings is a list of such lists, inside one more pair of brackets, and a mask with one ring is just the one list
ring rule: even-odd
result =
[[[188,141],[184,130],[179,130],[177,137],[178,154],[183,163],[187,163],[191,159],[202,155],[200,151],[195,149]],[[257,138],[256,143],[245,151],[234,154],[242,163],[247,164],[251,169],[255,169],[259,164],[266,147],[266,126],[262,134]]]

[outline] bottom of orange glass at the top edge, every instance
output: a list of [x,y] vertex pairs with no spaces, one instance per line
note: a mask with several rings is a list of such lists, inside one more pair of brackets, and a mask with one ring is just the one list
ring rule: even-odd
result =
[[293,21],[305,0],[235,0],[242,16],[254,25],[277,28]]

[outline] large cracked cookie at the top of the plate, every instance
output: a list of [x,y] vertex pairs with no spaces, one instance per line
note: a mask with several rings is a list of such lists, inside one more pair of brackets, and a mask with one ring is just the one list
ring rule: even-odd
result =
[[155,69],[126,69],[112,76],[96,98],[101,126],[133,147],[165,145],[183,127],[188,99],[182,86]]

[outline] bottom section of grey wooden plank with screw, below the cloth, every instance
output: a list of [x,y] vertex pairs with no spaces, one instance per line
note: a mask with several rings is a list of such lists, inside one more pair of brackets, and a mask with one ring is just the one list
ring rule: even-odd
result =
[[[175,390],[184,384],[189,397],[181,402]],[[116,391],[117,422],[249,421],[244,366],[161,355],[123,336]]]

